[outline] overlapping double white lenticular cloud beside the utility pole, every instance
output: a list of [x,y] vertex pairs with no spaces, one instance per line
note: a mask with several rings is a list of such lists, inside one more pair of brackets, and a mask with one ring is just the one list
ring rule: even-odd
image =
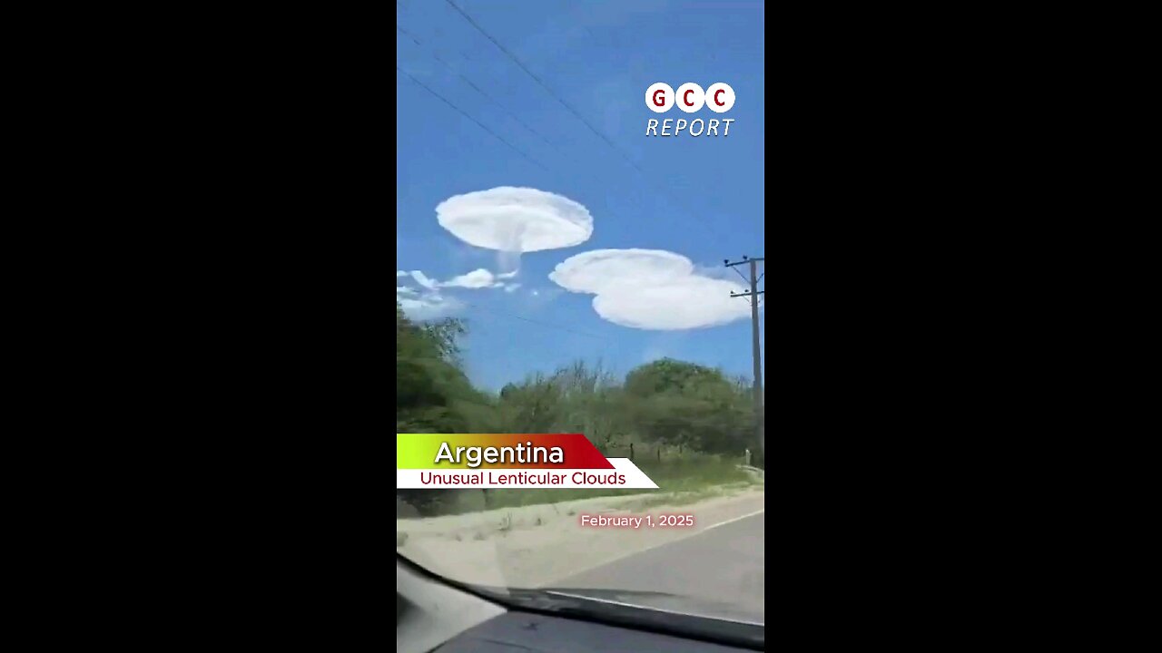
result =
[[702,329],[751,315],[746,300],[730,296],[746,290],[741,284],[698,274],[690,259],[662,250],[584,252],[548,278],[566,290],[596,295],[597,315],[633,329]]

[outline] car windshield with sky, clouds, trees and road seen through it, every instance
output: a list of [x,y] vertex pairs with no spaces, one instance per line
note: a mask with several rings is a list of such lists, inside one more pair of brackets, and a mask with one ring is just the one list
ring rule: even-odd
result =
[[581,435],[612,461],[404,483],[397,453],[399,555],[763,624],[763,21],[396,2],[397,443]]

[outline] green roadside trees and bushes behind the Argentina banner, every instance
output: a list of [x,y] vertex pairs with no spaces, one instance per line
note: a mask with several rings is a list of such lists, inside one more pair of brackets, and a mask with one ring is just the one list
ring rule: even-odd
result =
[[[668,493],[697,497],[753,482],[739,468],[753,446],[749,381],[673,359],[616,378],[578,361],[533,374],[500,393],[475,388],[462,371],[457,320],[415,323],[396,302],[397,433],[584,433],[605,455],[633,458]],[[631,449],[632,445],[632,449]],[[632,451],[632,454],[631,454]],[[752,459],[752,464],[762,462]],[[640,489],[396,490],[419,515],[553,503]],[[480,504],[454,494],[480,496]],[[460,497],[462,498],[462,497]]]

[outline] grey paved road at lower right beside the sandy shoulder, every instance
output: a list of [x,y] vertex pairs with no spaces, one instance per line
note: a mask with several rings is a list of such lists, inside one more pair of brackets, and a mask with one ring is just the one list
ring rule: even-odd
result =
[[[583,572],[561,588],[658,591],[708,602],[710,616],[765,623],[766,512]],[[629,598],[624,600],[632,603]],[[710,605],[713,603],[713,605]],[[659,608],[670,608],[673,604]],[[698,611],[693,609],[690,611]]]

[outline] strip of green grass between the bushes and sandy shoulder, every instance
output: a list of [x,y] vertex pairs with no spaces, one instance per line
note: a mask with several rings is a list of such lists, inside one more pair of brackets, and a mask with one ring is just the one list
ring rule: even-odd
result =
[[483,493],[479,490],[458,490],[458,493],[462,491],[461,497],[449,502],[440,512],[452,515],[496,508],[541,505],[600,496],[632,495],[639,495],[641,498],[633,502],[630,509],[643,510],[651,505],[693,503],[712,496],[722,496],[731,490],[758,485],[747,472],[738,468],[738,462],[733,457],[688,455],[674,460],[659,461],[644,459],[636,460],[634,462],[647,476],[658,483],[658,489],[494,489],[488,490],[487,505],[485,505]]

